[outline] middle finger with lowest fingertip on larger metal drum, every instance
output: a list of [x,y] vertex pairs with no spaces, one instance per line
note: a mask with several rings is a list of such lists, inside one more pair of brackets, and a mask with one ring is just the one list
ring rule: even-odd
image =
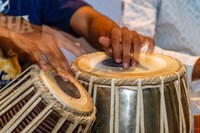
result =
[[130,49],[131,49],[131,38],[130,31],[126,28],[122,28],[122,50],[123,50],[123,67],[129,68],[130,66]]

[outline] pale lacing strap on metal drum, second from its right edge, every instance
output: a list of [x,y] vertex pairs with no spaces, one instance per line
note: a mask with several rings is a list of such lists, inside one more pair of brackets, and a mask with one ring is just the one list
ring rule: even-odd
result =
[[185,117],[183,114],[183,106],[182,106],[182,101],[181,101],[181,82],[180,82],[180,74],[175,72],[177,77],[178,77],[178,83],[175,81],[175,88],[176,88],[176,94],[178,98],[178,105],[179,105],[179,124],[180,124],[180,132],[185,133],[186,125],[185,125]]

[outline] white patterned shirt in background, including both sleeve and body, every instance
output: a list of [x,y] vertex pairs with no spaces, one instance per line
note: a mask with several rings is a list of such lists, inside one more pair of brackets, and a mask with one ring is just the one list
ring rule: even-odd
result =
[[123,22],[163,49],[200,55],[200,0],[123,0]]

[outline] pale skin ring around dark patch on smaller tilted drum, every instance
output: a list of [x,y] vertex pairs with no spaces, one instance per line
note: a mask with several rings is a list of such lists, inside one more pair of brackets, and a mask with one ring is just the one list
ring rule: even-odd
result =
[[[61,104],[63,109],[81,115],[88,115],[94,111],[94,104],[92,98],[79,82],[74,83],[74,85],[77,87],[81,95],[80,98],[76,99],[67,95],[63,90],[60,89],[60,87],[55,82],[48,84],[48,80],[52,81],[52,79],[49,76],[47,77],[45,76],[46,76],[45,72],[40,71],[39,74],[39,78],[41,79],[40,82],[42,82],[42,85],[45,88],[46,93],[48,93],[51,96],[51,98],[55,99],[59,104]],[[52,88],[52,86],[54,87]],[[55,90],[59,90],[59,92],[55,93],[56,92]],[[63,97],[60,97],[61,95]],[[84,102],[78,104],[78,102],[81,101]]]

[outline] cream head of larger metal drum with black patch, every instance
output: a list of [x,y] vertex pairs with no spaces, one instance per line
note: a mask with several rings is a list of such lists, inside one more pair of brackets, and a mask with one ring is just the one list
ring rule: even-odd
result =
[[96,77],[124,79],[165,76],[177,72],[181,67],[177,60],[156,53],[148,58],[141,53],[139,62],[138,67],[123,69],[122,65],[116,64],[112,57],[104,52],[96,52],[77,58],[72,68],[75,67],[82,73]]

